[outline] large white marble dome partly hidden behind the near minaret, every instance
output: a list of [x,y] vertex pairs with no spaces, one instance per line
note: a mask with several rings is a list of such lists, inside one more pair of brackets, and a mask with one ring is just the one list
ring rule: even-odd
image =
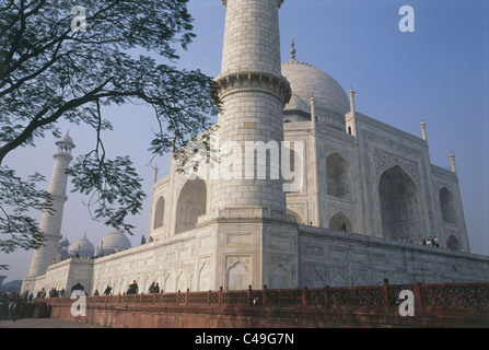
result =
[[[314,96],[316,107],[330,109],[341,115],[350,112],[347,93],[333,77],[322,70],[291,59],[282,63],[282,75],[289,81],[293,96],[284,109],[301,109],[310,113],[310,100]],[[303,109],[305,105],[308,108],[306,110]]]

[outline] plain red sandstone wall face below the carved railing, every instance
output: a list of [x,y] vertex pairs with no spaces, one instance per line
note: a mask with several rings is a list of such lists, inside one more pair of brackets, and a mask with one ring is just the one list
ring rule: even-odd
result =
[[489,327],[489,315],[484,313],[421,312],[414,317],[401,317],[394,311],[370,307],[89,306],[86,317],[73,317],[67,304],[53,303],[50,306],[53,318],[116,328]]

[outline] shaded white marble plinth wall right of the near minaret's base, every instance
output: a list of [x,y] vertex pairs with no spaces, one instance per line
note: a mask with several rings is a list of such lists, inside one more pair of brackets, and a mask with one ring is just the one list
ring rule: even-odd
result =
[[300,285],[488,282],[489,257],[350,233],[300,230]]

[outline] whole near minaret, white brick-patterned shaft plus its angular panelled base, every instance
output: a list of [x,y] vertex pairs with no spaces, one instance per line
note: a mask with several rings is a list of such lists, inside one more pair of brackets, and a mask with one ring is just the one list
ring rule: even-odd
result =
[[[216,278],[210,288],[276,287],[269,275],[272,234],[294,240],[281,174],[283,107],[292,94],[281,74],[279,8],[283,0],[222,0],[226,7],[217,133],[219,164],[210,210],[219,214]],[[214,145],[216,147],[216,145]],[[216,168],[219,174],[216,174]],[[216,176],[218,175],[218,176]],[[289,229],[283,223],[290,223]],[[234,243],[229,244],[226,237]],[[290,254],[292,252],[282,254]],[[290,271],[296,271],[290,261]],[[296,285],[296,275],[287,278]]]

